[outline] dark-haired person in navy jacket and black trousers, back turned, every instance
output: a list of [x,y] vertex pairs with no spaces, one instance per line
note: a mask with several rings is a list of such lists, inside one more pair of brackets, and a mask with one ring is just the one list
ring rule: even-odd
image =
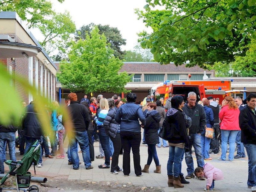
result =
[[140,122],[144,126],[146,124],[145,116],[139,105],[135,104],[137,95],[135,93],[128,93],[126,96],[126,103],[121,105],[116,113],[115,120],[120,124],[120,136],[123,144],[123,169],[124,176],[130,174],[130,151],[132,148],[133,164],[135,174],[140,177],[140,141],[141,141],[141,127]]

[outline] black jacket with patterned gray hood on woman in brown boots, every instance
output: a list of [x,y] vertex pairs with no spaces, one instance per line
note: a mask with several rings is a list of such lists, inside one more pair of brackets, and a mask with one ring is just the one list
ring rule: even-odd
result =
[[166,114],[166,135],[169,143],[185,143],[189,147],[188,134],[182,110],[170,108]]

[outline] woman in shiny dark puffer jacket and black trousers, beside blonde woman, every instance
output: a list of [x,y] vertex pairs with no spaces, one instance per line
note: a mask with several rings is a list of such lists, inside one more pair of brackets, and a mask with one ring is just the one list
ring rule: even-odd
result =
[[111,170],[112,174],[118,174],[122,172],[118,166],[118,158],[121,149],[121,138],[120,138],[120,125],[116,123],[115,116],[117,108],[115,107],[115,102],[113,99],[108,99],[108,114],[104,119],[103,125],[106,131],[106,134],[109,135],[110,140],[113,142],[114,153],[112,155]]

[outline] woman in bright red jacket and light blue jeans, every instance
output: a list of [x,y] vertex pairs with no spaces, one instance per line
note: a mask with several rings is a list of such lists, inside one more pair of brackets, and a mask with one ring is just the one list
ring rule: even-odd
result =
[[239,109],[233,99],[228,96],[223,100],[224,106],[221,108],[220,130],[221,130],[221,156],[218,160],[225,161],[229,142],[228,160],[233,161],[236,147],[236,135],[240,130],[238,117]]

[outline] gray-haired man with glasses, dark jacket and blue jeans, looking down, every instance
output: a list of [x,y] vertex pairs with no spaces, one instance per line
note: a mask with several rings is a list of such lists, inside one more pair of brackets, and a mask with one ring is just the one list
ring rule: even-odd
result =
[[196,93],[188,93],[188,101],[182,108],[184,113],[189,116],[192,120],[192,125],[189,128],[189,150],[185,152],[185,160],[188,166],[188,175],[186,179],[194,178],[194,162],[192,157],[192,145],[195,149],[197,167],[204,166],[204,157],[202,156],[202,146],[201,146],[201,134],[205,132],[206,116],[204,112],[204,107],[198,105],[196,102]]

